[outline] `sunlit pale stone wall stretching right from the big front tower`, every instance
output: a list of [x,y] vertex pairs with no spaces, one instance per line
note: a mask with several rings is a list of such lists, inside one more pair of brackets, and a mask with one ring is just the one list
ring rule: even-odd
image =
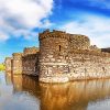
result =
[[110,77],[110,55],[77,52],[69,55],[69,80]]

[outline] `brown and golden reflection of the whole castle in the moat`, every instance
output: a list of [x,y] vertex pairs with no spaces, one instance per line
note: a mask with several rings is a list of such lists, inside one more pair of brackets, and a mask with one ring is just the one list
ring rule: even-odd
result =
[[90,103],[110,97],[110,79],[41,84],[35,77],[7,73],[13,92],[28,91],[41,102],[41,110],[87,110]]

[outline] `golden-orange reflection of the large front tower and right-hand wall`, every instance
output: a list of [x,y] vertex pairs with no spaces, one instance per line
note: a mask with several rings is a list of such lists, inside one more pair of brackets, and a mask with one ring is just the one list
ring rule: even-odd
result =
[[41,84],[41,90],[43,110],[87,110],[88,103],[110,96],[110,80]]

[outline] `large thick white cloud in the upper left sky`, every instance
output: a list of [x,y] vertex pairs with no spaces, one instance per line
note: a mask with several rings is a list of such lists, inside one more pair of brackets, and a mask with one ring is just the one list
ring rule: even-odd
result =
[[0,41],[51,24],[47,18],[52,9],[53,0],[0,0]]

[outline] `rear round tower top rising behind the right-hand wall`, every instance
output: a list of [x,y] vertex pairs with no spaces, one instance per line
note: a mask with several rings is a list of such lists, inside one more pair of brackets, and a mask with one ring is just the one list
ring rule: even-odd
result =
[[89,37],[80,34],[70,34],[69,43],[70,43],[70,51],[89,50],[90,47]]

